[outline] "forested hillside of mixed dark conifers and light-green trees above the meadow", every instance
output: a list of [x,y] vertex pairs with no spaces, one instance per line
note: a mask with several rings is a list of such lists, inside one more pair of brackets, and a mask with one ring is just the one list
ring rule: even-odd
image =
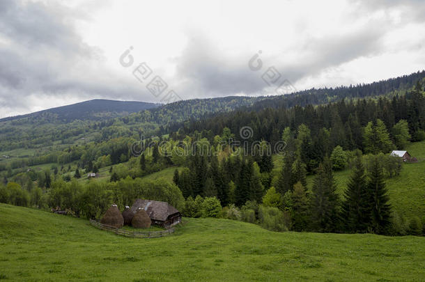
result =
[[[0,201],[98,218],[110,203],[131,205],[134,198],[147,197],[169,201],[187,217],[240,219],[270,230],[421,235],[424,214],[396,202],[420,207],[412,204],[424,196],[419,182],[412,182],[407,196],[388,194],[389,180],[424,164],[421,150],[405,160],[410,167],[389,155],[425,140],[423,78],[408,89],[399,80],[356,86],[359,96],[366,95],[364,87],[390,91],[385,95],[353,97],[355,88],[341,88],[334,102],[318,93],[304,107],[307,94],[272,97],[299,101],[293,107],[286,102],[257,107],[254,98],[229,97],[183,101],[85,127],[70,123],[68,130],[82,130],[70,134],[77,143],[62,140],[53,142],[52,150],[40,147],[36,155],[3,157]],[[394,90],[394,81],[400,88]],[[255,99],[265,103],[270,97]],[[173,107],[176,113],[169,112]],[[194,118],[178,123],[189,113]],[[56,136],[60,141],[61,134]],[[45,138],[37,139],[40,146]],[[148,178],[171,167],[180,168],[172,182]],[[335,173],[347,169],[341,187]],[[100,170],[109,177],[79,181]],[[314,178],[311,185],[308,178]]]

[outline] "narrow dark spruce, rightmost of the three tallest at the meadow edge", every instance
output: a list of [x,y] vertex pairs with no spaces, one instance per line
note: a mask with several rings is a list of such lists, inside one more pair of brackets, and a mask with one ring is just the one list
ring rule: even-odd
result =
[[373,158],[369,170],[368,192],[371,200],[371,220],[369,228],[373,233],[385,234],[388,231],[391,206],[388,203],[383,168],[378,157]]

